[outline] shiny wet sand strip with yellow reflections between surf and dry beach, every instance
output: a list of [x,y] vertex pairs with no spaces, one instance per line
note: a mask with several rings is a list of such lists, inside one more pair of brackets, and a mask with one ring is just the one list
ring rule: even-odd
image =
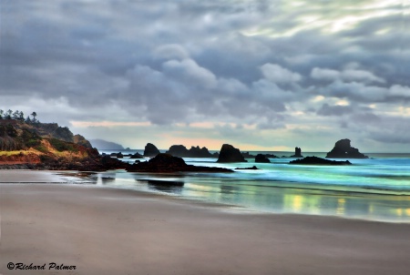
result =
[[272,182],[190,175],[121,175],[117,174],[116,178],[115,174],[105,174],[100,180],[108,186],[160,191],[187,199],[227,203],[274,213],[410,222],[409,195],[373,194],[354,189],[320,189],[313,186],[304,188],[288,182],[275,182],[275,186],[272,186]]

